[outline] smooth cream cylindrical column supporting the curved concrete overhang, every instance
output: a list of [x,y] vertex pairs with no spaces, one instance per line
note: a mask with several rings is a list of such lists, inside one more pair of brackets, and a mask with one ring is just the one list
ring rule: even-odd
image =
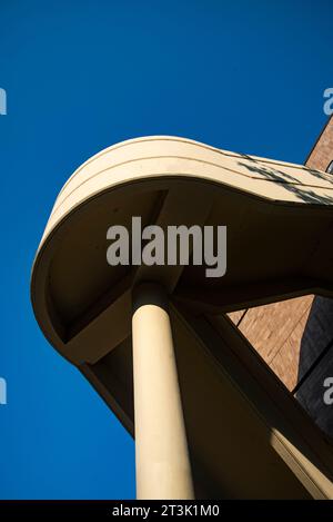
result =
[[133,373],[138,499],[193,499],[173,341],[163,289],[133,293]]

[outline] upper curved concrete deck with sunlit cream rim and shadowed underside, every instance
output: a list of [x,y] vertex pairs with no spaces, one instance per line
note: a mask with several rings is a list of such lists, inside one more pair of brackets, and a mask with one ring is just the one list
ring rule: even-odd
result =
[[[226,226],[226,274],[208,278],[206,267],[191,264],[110,267],[107,230],[131,230],[133,216],[142,227]],[[216,312],[330,293],[332,218],[333,180],[324,173],[181,138],[124,141],[85,161],[61,189],[33,266],[34,312],[51,343],[79,363],[110,349],[101,334],[84,347],[84,325],[100,331],[104,308],[114,342],[122,338],[128,290],[139,279],[159,280],[174,297]]]

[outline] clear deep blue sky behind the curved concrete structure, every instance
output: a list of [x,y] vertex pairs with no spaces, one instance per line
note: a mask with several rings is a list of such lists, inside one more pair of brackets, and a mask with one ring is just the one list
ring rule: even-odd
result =
[[62,184],[144,135],[303,162],[327,118],[332,19],[330,0],[1,0],[1,499],[134,496],[131,437],[30,305]]

